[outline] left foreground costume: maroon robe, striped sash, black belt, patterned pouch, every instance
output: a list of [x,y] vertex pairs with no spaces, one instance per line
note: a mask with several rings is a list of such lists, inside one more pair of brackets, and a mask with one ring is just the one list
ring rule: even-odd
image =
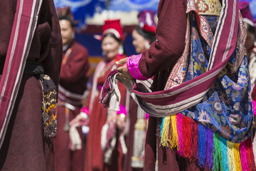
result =
[[0,170],[55,170],[51,137],[62,58],[55,6],[51,0],[0,6]]

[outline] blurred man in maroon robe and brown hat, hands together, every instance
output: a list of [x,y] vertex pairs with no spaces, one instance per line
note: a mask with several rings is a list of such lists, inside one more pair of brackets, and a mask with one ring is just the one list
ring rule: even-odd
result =
[[[57,134],[54,138],[56,170],[82,170],[84,145],[82,128],[70,128],[69,121],[78,115],[82,100],[86,97],[87,81],[90,77],[88,53],[84,46],[74,40],[75,21],[70,8],[58,8],[61,36],[63,38],[63,61],[57,107]],[[77,145],[73,135],[78,133]]]

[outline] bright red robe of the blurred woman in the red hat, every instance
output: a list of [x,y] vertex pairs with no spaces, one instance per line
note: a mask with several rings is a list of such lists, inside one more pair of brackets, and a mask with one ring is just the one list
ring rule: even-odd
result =
[[[106,61],[104,61],[106,63]],[[112,64],[111,64],[112,63]],[[107,78],[107,74],[110,73],[112,66],[114,66],[114,62],[110,61],[106,64],[105,71],[101,72],[100,76],[97,78],[97,88],[101,88],[105,83]],[[96,68],[96,72],[99,66]],[[96,73],[95,72],[95,73]],[[95,85],[92,85],[92,87]],[[125,104],[125,95],[126,95],[126,88],[122,83],[118,83],[118,87],[121,93],[121,104]],[[92,95],[90,95],[92,96]],[[102,104],[99,103],[100,99],[100,90],[95,96],[95,98],[90,98],[90,102],[92,104],[92,109],[89,111],[90,115],[90,130],[87,134],[87,142],[86,142],[86,150],[85,150],[85,171],[98,171],[98,170],[116,170],[121,171],[124,167],[124,155],[122,152],[119,152],[120,144],[117,141],[116,147],[114,149],[112,155],[112,165],[107,165],[104,163],[104,153],[101,149],[100,140],[101,140],[101,131],[102,126],[105,125],[107,121],[107,109],[103,108]],[[118,134],[118,133],[117,133]],[[119,138],[119,135],[117,135]]]

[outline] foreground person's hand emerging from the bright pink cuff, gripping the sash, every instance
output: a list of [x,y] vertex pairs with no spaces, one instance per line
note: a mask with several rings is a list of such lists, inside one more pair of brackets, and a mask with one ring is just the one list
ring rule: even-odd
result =
[[120,66],[116,69],[119,72],[119,74],[117,75],[117,78],[132,80],[132,76],[129,73],[129,70],[127,68],[127,58],[120,59],[119,61],[116,62],[116,64],[117,65],[124,64],[123,66]]

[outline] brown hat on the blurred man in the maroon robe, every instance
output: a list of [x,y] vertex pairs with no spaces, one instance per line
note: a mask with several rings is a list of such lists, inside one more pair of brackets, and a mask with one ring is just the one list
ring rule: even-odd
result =
[[73,26],[78,24],[78,21],[75,21],[70,6],[59,7],[57,8],[57,14],[59,19],[68,19]]

